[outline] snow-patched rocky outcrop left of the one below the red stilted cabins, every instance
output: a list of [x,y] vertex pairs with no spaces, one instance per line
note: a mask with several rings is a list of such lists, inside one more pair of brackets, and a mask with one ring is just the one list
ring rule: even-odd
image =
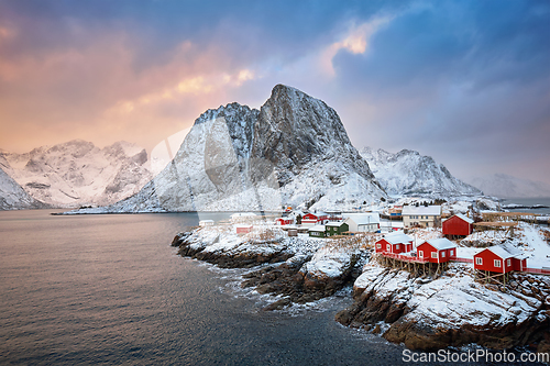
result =
[[[315,244],[310,247],[296,247],[278,237],[254,243],[253,248],[250,243],[243,242],[237,247],[210,251],[212,244],[219,243],[219,237],[210,243],[197,242],[196,232],[191,231],[176,235],[172,245],[178,247],[178,254],[184,257],[204,260],[221,268],[253,268],[271,264],[245,274],[241,287],[255,287],[260,293],[283,295],[285,298],[264,309],[278,310],[293,302],[319,300],[351,286],[361,275],[370,255],[366,249],[353,248],[354,243],[339,243],[345,247],[321,248],[322,241],[311,242]],[[324,268],[319,268],[318,264]]]

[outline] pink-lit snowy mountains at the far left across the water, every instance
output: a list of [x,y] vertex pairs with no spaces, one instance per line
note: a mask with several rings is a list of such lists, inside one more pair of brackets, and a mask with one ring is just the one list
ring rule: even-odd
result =
[[127,142],[99,148],[75,140],[26,154],[2,151],[0,163],[28,193],[53,207],[110,204],[152,179],[145,149]]

